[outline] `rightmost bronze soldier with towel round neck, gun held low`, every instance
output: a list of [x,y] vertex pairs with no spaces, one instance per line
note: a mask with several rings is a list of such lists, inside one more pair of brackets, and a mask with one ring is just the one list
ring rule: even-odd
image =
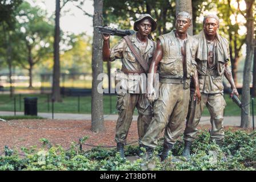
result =
[[[197,125],[201,119],[203,107],[207,106],[211,115],[211,140],[220,146],[225,138],[223,129],[223,113],[226,102],[223,97],[223,76],[231,85],[231,98],[239,104],[238,92],[235,87],[231,69],[229,68],[229,43],[218,34],[219,18],[217,15],[207,15],[203,19],[203,30],[195,35],[199,41],[197,51],[197,72],[199,88],[202,94],[201,104],[190,102],[191,110],[187,114],[184,132],[185,147],[182,155],[190,156],[191,144],[197,134]],[[242,105],[239,104],[240,107]]]

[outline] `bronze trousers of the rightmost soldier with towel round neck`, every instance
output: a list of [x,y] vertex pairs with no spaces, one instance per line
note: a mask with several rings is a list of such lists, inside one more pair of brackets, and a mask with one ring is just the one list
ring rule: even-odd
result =
[[[193,96],[193,93],[191,93]],[[226,106],[222,93],[205,94],[201,93],[201,102],[196,104],[193,100],[190,101],[189,113],[187,114],[186,128],[184,131],[184,140],[191,141],[197,135],[197,125],[201,119],[203,108],[208,108],[211,115],[211,140],[223,140],[223,114]]]

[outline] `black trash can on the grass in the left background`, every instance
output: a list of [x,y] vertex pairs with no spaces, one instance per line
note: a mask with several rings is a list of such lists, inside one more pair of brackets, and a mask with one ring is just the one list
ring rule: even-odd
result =
[[24,115],[37,115],[37,97],[24,98]]

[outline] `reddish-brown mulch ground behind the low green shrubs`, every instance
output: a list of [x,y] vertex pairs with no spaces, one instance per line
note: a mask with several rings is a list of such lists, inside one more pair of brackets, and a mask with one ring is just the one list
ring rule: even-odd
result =
[[[26,119],[0,121],[0,155],[4,147],[19,150],[21,147],[41,146],[41,138],[48,139],[52,144],[60,144],[63,148],[70,147],[71,142],[78,142],[79,138],[88,136],[83,150],[90,150],[93,146],[115,146],[115,121],[105,121],[105,130],[101,133],[91,131],[90,120],[57,120],[57,119]],[[229,127],[226,126],[225,130]],[[198,129],[210,129],[210,125],[199,125]],[[238,130],[239,127],[232,127]],[[248,130],[249,131],[249,130]],[[127,136],[127,143],[137,144],[137,122],[132,122]]]

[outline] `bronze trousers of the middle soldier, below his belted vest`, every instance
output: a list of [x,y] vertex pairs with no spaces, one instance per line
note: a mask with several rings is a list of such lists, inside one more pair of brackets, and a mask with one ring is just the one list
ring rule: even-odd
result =
[[190,89],[183,84],[159,84],[159,97],[153,107],[153,120],[141,140],[144,146],[155,148],[165,129],[165,143],[174,144],[182,134],[190,99]]

